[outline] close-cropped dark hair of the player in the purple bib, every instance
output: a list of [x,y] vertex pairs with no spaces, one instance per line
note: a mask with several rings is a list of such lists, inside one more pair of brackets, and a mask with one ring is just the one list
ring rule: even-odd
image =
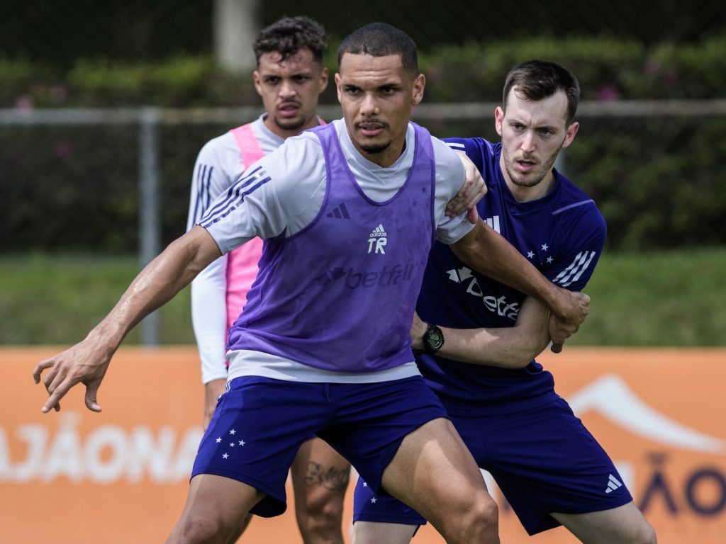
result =
[[418,53],[411,36],[386,22],[371,22],[348,35],[338,49],[338,66],[346,53],[371,57],[400,55],[404,70],[418,73]]

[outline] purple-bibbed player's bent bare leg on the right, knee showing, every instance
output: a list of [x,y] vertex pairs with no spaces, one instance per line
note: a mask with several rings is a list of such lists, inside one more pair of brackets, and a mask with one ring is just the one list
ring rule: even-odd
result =
[[447,543],[499,543],[497,503],[448,419],[407,434],[381,483],[428,519]]

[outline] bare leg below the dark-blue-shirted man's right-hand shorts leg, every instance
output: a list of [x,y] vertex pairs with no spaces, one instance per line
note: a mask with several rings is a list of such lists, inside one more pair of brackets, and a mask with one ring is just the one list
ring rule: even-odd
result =
[[656,532],[634,503],[588,514],[552,517],[584,544],[656,544]]

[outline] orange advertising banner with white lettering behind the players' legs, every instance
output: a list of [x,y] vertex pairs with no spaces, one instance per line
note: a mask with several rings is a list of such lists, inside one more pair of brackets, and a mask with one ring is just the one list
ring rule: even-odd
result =
[[[56,352],[0,349],[0,543],[163,542],[201,437],[195,348],[123,347],[99,390],[102,413],[86,410],[77,387],[62,411],[43,414],[46,392],[31,373]],[[615,461],[660,544],[726,542],[726,349],[566,347],[540,360]],[[487,482],[503,544],[577,542],[561,527],[528,537]],[[253,519],[240,543],[301,543],[293,510]],[[426,526],[413,543],[443,539]]]

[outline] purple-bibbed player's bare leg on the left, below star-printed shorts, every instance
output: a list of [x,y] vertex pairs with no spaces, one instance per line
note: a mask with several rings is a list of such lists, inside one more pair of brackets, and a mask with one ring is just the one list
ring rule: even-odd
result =
[[166,542],[219,543],[234,542],[244,519],[264,493],[237,480],[199,474],[189,484],[189,495],[179,521]]

